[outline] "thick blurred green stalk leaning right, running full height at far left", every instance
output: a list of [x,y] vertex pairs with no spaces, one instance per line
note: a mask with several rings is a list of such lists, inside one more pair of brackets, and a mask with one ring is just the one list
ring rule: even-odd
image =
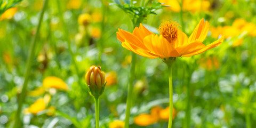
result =
[[26,63],[25,76],[24,76],[25,81],[22,86],[22,91],[21,91],[19,101],[18,101],[18,109],[17,109],[17,114],[15,116],[14,128],[21,127],[21,125],[20,125],[21,108],[22,108],[23,102],[26,99],[26,92],[27,92],[27,87],[28,87],[28,81],[30,78],[31,65],[32,65],[33,59],[35,57],[36,42],[38,41],[39,31],[40,31],[40,27],[41,27],[41,24],[43,21],[44,12],[45,12],[47,4],[48,4],[48,0],[45,0],[42,11],[40,13],[39,22],[38,22],[38,25],[36,28],[35,38],[34,38],[33,42],[30,44],[28,59],[27,59],[27,63]]

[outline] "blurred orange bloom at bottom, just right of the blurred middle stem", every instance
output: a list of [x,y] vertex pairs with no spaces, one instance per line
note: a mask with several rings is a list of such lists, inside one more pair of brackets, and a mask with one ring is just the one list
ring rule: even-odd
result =
[[158,117],[152,116],[150,114],[140,114],[134,118],[134,123],[139,126],[148,126],[154,124],[158,121]]

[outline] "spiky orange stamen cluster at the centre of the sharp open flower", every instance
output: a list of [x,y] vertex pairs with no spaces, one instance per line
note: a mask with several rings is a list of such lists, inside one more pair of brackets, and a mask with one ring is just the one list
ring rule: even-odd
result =
[[173,43],[178,38],[178,26],[179,24],[177,22],[166,21],[161,23],[158,31],[169,43]]

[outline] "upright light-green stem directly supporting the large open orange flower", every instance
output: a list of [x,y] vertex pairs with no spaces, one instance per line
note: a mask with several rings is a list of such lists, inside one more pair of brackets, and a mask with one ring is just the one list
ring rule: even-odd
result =
[[172,65],[173,65],[173,63],[167,64],[168,72],[169,72],[169,99],[170,99],[170,102],[169,102],[170,109],[169,109],[168,128],[172,127],[172,109],[173,109],[173,106],[172,106]]

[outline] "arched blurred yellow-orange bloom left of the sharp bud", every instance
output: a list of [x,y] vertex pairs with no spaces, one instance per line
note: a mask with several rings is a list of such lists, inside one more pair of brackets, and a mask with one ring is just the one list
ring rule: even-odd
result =
[[43,87],[68,90],[68,85],[55,76],[46,77],[43,81]]

